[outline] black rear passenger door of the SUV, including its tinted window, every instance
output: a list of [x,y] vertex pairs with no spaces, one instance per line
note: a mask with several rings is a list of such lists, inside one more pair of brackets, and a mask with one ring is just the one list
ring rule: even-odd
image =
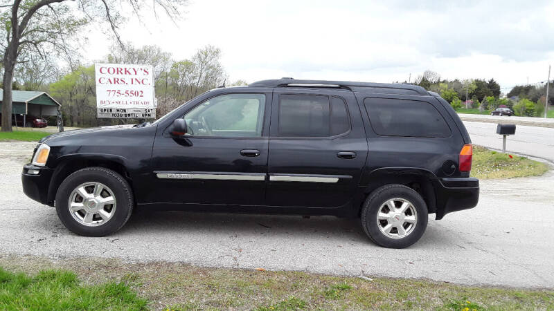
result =
[[276,88],[267,205],[347,205],[367,153],[364,125],[352,92]]

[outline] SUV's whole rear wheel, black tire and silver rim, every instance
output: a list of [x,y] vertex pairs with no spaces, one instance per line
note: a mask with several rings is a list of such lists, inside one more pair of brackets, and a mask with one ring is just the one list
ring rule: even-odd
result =
[[378,245],[404,248],[421,238],[427,214],[425,200],[416,191],[404,185],[385,185],[364,202],[361,226]]

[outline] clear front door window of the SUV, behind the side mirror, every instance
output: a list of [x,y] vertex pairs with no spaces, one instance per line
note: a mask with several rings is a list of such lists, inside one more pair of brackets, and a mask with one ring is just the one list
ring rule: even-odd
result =
[[227,94],[203,102],[184,115],[188,135],[260,137],[264,94]]

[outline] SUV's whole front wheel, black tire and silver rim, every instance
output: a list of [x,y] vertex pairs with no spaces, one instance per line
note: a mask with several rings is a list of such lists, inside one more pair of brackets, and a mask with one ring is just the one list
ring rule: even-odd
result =
[[118,231],[132,209],[129,183],[104,167],[75,171],[56,194],[57,216],[67,229],[81,236],[107,236]]

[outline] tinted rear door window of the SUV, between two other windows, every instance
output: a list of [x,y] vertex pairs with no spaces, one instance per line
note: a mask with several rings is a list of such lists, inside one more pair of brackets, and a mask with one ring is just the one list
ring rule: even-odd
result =
[[280,95],[278,135],[329,137],[350,130],[346,103],[326,95]]

